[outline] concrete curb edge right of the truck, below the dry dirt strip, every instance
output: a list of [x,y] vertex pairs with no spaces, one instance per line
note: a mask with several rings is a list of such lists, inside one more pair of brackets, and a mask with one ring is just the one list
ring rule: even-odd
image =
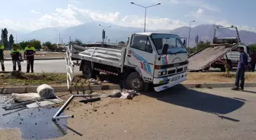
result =
[[[204,83],[204,84],[181,84],[187,89],[196,89],[196,88],[232,88],[235,86],[235,83]],[[256,82],[247,82],[245,87],[256,87]]]

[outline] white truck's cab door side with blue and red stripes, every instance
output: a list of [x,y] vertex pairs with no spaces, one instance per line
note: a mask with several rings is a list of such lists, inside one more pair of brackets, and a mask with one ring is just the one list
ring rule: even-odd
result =
[[155,51],[149,36],[134,34],[127,48],[126,63],[142,75],[144,81],[152,82],[155,68]]

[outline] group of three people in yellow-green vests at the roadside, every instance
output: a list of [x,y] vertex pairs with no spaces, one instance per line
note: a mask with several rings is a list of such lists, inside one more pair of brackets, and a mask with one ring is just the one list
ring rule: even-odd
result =
[[[1,45],[0,46],[0,62],[2,66],[2,71],[5,71],[4,51],[5,51],[5,47],[4,45]],[[24,48],[24,59],[27,60],[27,73],[30,73],[30,72],[34,73],[34,54],[35,53],[36,53],[35,48],[30,44],[28,44],[27,47]],[[18,48],[18,45],[16,44],[12,45],[10,55],[12,59],[13,70],[15,71],[18,65],[18,71],[21,71],[21,61],[23,61],[23,59],[22,59],[21,50]]]

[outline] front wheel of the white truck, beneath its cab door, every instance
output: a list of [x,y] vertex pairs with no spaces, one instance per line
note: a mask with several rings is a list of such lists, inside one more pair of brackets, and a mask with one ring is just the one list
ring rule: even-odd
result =
[[138,92],[147,91],[149,89],[149,83],[144,82],[142,77],[137,72],[130,73],[126,78],[126,87]]

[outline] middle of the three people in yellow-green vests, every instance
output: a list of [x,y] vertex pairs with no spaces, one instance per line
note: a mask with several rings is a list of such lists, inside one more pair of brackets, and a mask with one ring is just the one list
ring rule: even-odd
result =
[[11,58],[13,63],[13,71],[16,71],[16,63],[18,64],[18,71],[21,71],[21,50],[17,45],[12,45]]

